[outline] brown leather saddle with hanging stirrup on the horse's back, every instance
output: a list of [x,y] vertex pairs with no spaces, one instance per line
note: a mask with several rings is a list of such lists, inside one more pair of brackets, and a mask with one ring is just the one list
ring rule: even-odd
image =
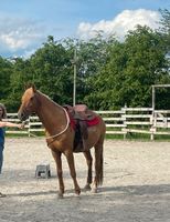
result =
[[64,108],[70,113],[76,122],[75,129],[75,145],[82,141],[84,151],[86,150],[86,141],[88,138],[87,121],[96,118],[96,114],[87,108],[86,104],[76,104],[74,107],[64,105]]

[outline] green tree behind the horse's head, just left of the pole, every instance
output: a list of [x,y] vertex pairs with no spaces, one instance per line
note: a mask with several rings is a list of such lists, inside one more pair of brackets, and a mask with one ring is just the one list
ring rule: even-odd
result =
[[30,59],[33,70],[33,82],[42,92],[57,103],[72,104],[72,75],[71,53],[49,37]]

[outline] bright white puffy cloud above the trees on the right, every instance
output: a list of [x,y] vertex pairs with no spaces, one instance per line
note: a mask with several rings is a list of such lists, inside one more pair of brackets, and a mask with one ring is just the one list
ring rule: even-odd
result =
[[98,31],[103,31],[105,36],[115,33],[116,37],[123,39],[128,30],[134,30],[137,24],[148,26],[152,29],[158,28],[160,13],[146,9],[124,10],[113,20],[100,20],[97,23],[82,22],[78,26],[77,34],[82,39],[88,39],[96,36]]

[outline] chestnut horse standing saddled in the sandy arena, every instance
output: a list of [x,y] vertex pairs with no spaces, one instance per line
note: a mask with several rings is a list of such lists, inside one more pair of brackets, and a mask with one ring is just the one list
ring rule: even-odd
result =
[[[25,90],[22,95],[22,103],[18,112],[18,117],[21,121],[24,121],[35,113],[45,128],[46,143],[51,149],[52,155],[56,163],[56,172],[59,178],[59,198],[63,198],[64,194],[64,181],[62,172],[62,153],[66,157],[70,173],[74,182],[75,193],[79,195],[81,189],[76,180],[76,171],[73,155],[73,144],[75,130],[71,125],[67,111],[60,104],[52,101],[49,97],[41,93],[34,85]],[[97,115],[97,114],[96,114]],[[83,150],[86,158],[88,171],[87,182],[85,189],[93,192],[97,192],[97,186],[103,183],[103,144],[105,138],[105,122],[99,119],[98,124],[87,128],[87,149]],[[92,162],[91,148],[95,149],[95,176],[92,181]],[[91,184],[93,182],[93,186]]]

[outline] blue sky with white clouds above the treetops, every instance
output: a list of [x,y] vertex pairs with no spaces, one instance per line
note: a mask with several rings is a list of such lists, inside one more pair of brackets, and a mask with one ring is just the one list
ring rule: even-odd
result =
[[96,31],[123,39],[137,23],[157,28],[158,9],[170,0],[0,0],[0,56],[29,57],[47,36],[94,37]]

